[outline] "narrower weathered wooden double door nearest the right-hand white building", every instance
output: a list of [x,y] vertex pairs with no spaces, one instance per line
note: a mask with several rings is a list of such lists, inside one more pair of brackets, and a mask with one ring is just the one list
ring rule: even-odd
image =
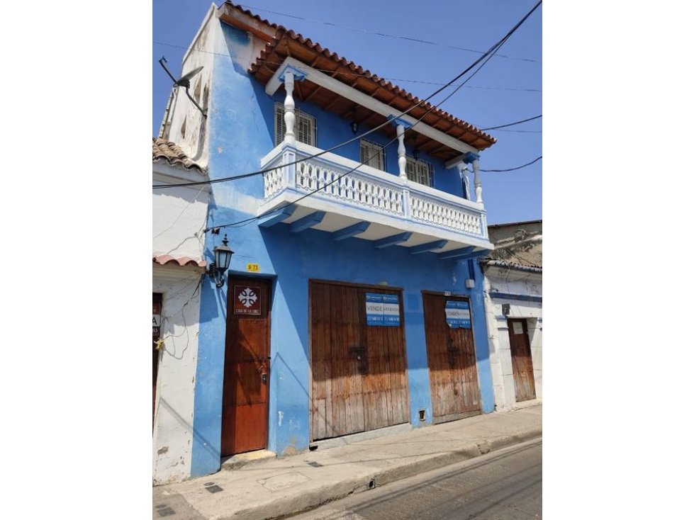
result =
[[446,321],[447,301],[469,303],[469,300],[425,292],[422,299],[433,421],[454,421],[481,414],[472,328],[452,328]]

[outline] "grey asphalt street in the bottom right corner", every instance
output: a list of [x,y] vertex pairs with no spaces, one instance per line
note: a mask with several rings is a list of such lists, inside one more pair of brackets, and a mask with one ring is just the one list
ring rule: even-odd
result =
[[326,504],[293,520],[542,518],[542,439]]

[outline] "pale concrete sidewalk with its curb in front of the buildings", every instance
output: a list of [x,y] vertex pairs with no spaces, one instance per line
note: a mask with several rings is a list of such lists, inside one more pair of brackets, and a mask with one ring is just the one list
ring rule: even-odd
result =
[[264,520],[298,513],[540,437],[542,403],[528,405],[374,439],[318,443],[315,451],[285,458],[225,465],[214,475],[155,487],[152,517]]

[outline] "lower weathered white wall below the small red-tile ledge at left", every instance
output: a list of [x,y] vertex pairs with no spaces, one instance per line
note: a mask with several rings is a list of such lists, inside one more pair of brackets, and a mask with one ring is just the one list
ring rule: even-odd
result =
[[202,269],[159,266],[152,269],[152,292],[163,293],[164,347],[159,353],[152,479],[155,484],[190,476],[193,439],[193,388],[198,355]]

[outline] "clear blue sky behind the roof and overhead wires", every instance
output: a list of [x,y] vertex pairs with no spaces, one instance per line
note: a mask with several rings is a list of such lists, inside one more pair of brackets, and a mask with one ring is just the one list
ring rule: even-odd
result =
[[[374,0],[250,1],[240,5],[425,98],[479,57],[476,52],[451,47],[488,49],[537,0],[405,0],[397,4]],[[171,80],[157,60],[165,56],[169,70],[179,75],[185,48],[210,6],[211,2],[198,0],[155,0],[152,4],[152,135],[159,131],[171,90]],[[542,6],[498,55],[508,57],[493,57],[441,108],[478,128],[542,114]],[[442,92],[432,102],[442,100],[450,91]],[[542,155],[541,130],[542,118],[490,130],[498,142],[482,152],[481,169],[520,166]],[[481,175],[489,224],[542,218],[542,159],[525,169]]]

